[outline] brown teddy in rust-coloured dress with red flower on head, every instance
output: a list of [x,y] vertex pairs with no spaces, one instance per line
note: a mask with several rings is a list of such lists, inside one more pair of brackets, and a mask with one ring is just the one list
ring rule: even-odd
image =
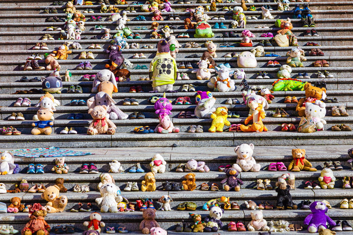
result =
[[50,232],[50,225],[45,221],[47,211],[40,203],[28,205],[28,217],[30,221],[26,223],[21,231],[21,235],[48,235]]

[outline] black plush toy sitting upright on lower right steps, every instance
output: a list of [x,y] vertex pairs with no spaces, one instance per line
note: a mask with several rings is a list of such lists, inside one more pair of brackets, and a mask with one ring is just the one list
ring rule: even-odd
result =
[[276,182],[276,192],[277,192],[277,204],[276,207],[280,210],[286,209],[297,209],[297,205],[293,205],[292,196],[289,193],[291,186],[287,185],[286,180],[280,178]]

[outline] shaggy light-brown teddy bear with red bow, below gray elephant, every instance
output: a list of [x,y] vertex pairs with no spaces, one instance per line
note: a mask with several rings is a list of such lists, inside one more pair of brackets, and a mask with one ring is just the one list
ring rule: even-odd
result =
[[88,110],[88,114],[93,118],[88,127],[87,135],[108,134],[114,135],[116,125],[106,118],[107,106],[97,105],[93,109]]

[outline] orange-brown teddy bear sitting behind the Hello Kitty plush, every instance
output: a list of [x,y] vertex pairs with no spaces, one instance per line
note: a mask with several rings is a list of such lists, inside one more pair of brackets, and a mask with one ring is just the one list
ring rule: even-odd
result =
[[308,82],[304,85],[305,98],[301,98],[298,101],[295,111],[298,112],[299,117],[305,117],[305,103],[315,103],[316,100],[321,100],[326,98],[326,89],[319,88],[316,86],[311,86]]

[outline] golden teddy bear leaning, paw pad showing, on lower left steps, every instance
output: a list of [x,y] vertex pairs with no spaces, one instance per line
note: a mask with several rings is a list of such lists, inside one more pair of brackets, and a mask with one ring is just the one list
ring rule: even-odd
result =
[[44,208],[48,213],[62,212],[67,205],[67,197],[60,196],[60,188],[58,185],[47,187],[42,193],[41,198],[47,201]]

